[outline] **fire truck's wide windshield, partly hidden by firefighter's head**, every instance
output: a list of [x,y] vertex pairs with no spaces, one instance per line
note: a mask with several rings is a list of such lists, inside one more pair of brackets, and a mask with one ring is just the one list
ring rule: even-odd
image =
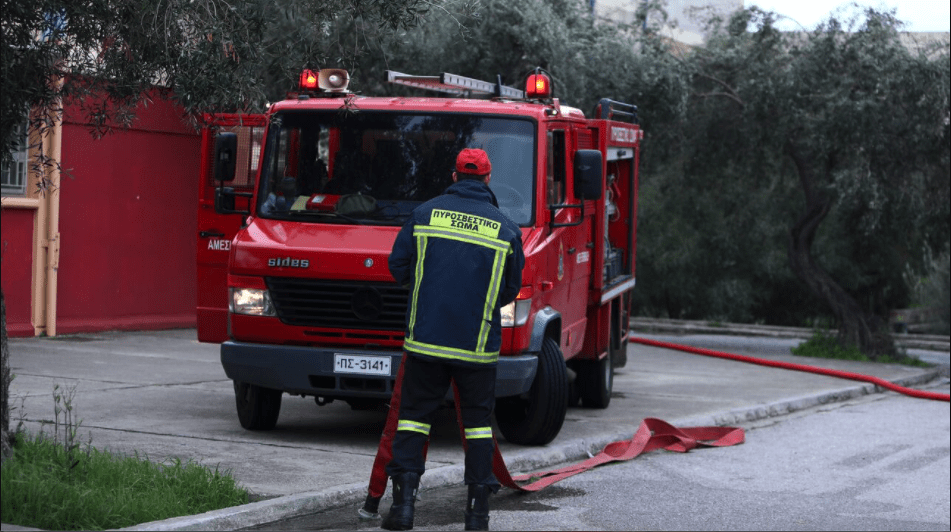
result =
[[488,153],[499,208],[517,224],[531,224],[535,124],[460,114],[277,113],[268,127],[257,212],[400,225],[452,184],[463,148]]

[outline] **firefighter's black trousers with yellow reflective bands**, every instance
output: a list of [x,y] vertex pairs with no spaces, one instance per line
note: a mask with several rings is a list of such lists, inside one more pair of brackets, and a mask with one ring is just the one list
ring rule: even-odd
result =
[[[463,366],[412,353],[408,353],[403,364],[401,428],[393,436],[393,458],[386,466],[390,477],[404,472],[422,475],[426,470],[423,448],[429,438],[429,426],[442,406],[452,380],[459,387],[462,424],[467,430],[491,430],[495,407],[495,366]],[[414,430],[402,428],[407,422],[414,426]],[[492,474],[495,451],[492,438],[467,437],[466,442],[465,483],[486,484],[498,489],[499,482]]]

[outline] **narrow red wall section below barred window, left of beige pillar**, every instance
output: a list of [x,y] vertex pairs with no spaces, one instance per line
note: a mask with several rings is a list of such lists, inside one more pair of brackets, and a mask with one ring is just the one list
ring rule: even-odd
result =
[[30,322],[30,279],[33,268],[33,217],[34,209],[8,209],[0,211],[0,254],[2,272],[0,284],[7,309],[7,334],[10,336],[33,336]]

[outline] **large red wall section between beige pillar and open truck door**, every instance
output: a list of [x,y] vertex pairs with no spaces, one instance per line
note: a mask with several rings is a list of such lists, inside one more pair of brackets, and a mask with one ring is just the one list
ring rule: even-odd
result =
[[63,127],[57,332],[195,326],[200,137],[155,99],[131,130]]

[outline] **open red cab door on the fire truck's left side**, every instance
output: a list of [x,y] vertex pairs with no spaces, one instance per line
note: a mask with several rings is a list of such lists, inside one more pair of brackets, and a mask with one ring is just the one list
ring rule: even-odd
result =
[[[220,343],[228,339],[228,259],[231,241],[244,224],[240,214],[215,212],[215,136],[232,132],[238,136],[235,179],[225,185],[235,192],[254,191],[264,139],[264,115],[214,115],[202,130],[201,168],[198,186],[198,341]],[[238,196],[234,209],[252,211],[251,198]]]

